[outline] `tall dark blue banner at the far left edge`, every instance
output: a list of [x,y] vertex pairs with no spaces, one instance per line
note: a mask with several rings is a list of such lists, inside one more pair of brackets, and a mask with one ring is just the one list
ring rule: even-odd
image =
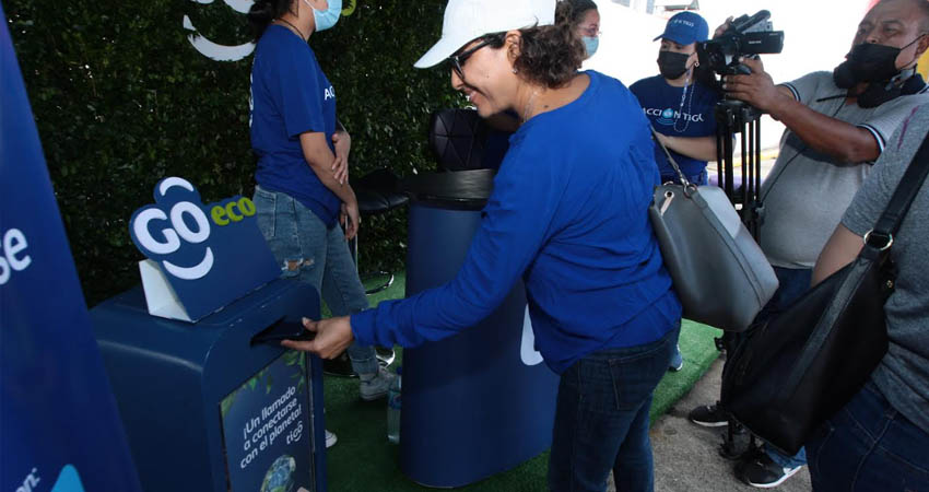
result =
[[0,5],[0,490],[140,491]]

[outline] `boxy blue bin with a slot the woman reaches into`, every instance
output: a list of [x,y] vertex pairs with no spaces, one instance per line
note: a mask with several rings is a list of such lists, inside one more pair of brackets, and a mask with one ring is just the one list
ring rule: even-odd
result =
[[326,491],[320,361],[252,343],[318,315],[316,291],[294,280],[197,324],[150,316],[140,288],[91,311],[146,492]]

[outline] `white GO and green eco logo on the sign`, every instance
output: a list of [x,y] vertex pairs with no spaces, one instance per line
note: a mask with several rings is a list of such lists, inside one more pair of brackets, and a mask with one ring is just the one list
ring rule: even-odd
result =
[[[211,227],[224,227],[255,215],[255,203],[246,197],[231,198],[207,210],[200,194],[186,179],[168,177],[155,186],[155,204],[136,211],[129,230],[136,246],[161,262],[167,273],[181,280],[205,277],[213,268]],[[212,219],[212,224],[210,219]]]

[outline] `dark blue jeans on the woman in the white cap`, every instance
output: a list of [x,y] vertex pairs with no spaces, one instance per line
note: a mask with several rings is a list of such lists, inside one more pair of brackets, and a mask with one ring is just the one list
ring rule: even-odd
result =
[[648,410],[674,351],[680,325],[651,343],[607,349],[577,361],[558,385],[549,489],[651,491]]

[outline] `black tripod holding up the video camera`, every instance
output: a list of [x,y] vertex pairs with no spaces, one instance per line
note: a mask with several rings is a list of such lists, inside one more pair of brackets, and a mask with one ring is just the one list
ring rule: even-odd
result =
[[[736,207],[745,229],[756,242],[761,241],[761,223],[764,204],[761,199],[761,112],[741,101],[724,99],[716,105],[716,156],[719,187]],[[734,144],[732,136],[741,138],[740,183],[736,184]],[[742,333],[725,331],[716,339],[716,348],[732,353]],[[736,442],[743,427],[728,414],[727,430],[719,454],[728,459],[739,459],[757,448],[754,435],[750,435],[744,450]]]

